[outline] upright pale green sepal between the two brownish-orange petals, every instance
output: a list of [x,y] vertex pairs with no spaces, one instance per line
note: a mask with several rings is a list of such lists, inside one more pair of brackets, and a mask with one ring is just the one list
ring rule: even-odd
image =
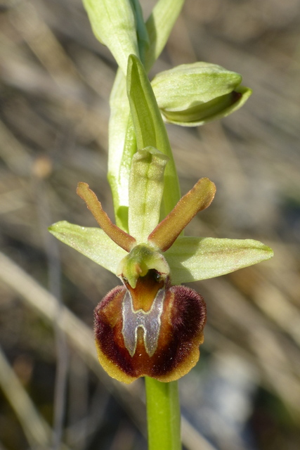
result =
[[129,176],[129,233],[137,243],[147,242],[159,222],[168,159],[154,147],[143,148],[133,155]]

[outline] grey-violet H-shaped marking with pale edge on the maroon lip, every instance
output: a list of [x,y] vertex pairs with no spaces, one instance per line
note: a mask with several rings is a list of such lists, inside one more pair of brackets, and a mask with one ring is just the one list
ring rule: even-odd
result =
[[132,357],[136,352],[138,342],[138,328],[143,329],[143,339],[145,350],[152,356],[157,349],[159,338],[160,317],[164,307],[164,288],[159,289],[149,311],[143,309],[133,309],[133,302],[129,290],[124,295],[122,304],[122,335],[126,349]]

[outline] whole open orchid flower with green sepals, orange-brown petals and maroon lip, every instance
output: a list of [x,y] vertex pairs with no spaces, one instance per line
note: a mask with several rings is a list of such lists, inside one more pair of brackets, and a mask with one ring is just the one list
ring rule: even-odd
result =
[[78,184],[77,193],[100,229],[66,221],[50,227],[56,238],[122,281],[95,309],[95,339],[100,364],[124,383],[145,375],[177,380],[197,363],[206,307],[201,295],[181,283],[228,274],[273,255],[256,240],[181,236],[214,199],[216,187],[207,178],[159,222],[167,160],[153,147],[133,156],[129,233],[112,224],[86,183]]

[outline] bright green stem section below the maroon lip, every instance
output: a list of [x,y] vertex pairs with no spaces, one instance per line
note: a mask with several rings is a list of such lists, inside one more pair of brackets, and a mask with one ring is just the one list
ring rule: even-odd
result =
[[148,450],[181,450],[178,382],[161,383],[145,377]]

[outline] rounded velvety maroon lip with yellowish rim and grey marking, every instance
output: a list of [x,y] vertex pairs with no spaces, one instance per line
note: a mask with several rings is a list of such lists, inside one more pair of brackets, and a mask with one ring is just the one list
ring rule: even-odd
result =
[[117,286],[96,307],[100,364],[124,383],[144,375],[177,380],[199,359],[205,321],[201,295],[150,270],[136,288]]

